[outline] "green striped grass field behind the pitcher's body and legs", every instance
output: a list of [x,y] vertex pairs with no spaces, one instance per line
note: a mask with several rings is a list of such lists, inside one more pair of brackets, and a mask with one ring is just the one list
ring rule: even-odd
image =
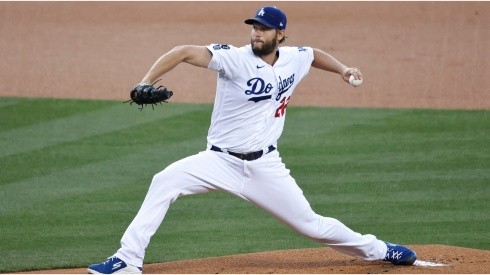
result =
[[[211,104],[0,98],[0,272],[112,255]],[[405,244],[490,249],[490,111],[294,107],[279,149],[313,208]],[[227,193],[179,199],[145,262],[319,247]]]

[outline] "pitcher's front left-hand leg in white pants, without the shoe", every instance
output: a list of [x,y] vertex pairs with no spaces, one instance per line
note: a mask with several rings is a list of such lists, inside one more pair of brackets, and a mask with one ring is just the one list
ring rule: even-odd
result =
[[118,258],[141,267],[150,238],[162,223],[171,203],[180,196],[217,189],[236,192],[239,182],[223,154],[204,151],[177,161],[153,177],[141,208],[121,239]]

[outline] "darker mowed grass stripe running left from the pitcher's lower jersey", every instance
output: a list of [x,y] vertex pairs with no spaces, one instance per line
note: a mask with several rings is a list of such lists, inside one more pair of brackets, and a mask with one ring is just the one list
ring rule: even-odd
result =
[[[140,120],[138,124],[134,121],[122,122],[122,125],[116,126],[111,131],[106,129],[98,134],[92,133],[91,136],[85,133],[76,140],[46,145],[42,149],[0,158],[3,167],[29,167],[22,173],[19,173],[18,169],[4,170],[0,185],[49,175],[64,169],[133,154],[140,150],[145,151],[147,148],[153,148],[155,154],[171,147],[173,143],[195,137],[200,138],[201,148],[204,149],[206,143],[203,136],[207,131],[206,124],[209,119],[206,117],[209,113],[209,108],[197,107],[187,109],[180,115],[174,112],[171,117],[154,118],[152,121]],[[189,117],[195,119],[189,120]],[[80,128],[79,131],[84,129]]]

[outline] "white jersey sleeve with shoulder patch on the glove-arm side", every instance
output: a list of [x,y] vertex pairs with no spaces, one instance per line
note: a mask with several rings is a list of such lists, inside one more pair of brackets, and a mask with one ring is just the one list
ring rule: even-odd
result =
[[223,44],[211,44],[207,48],[213,54],[208,69],[219,72],[222,77],[233,78],[233,72],[239,68],[237,48]]

